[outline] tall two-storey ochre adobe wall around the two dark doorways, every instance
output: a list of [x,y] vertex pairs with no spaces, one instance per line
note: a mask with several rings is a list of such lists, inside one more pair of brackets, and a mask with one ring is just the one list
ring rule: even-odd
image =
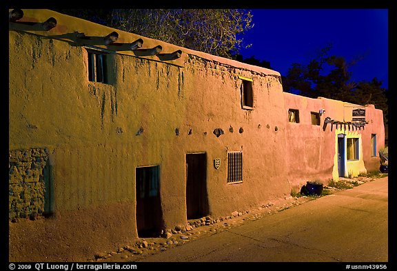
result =
[[[10,223],[10,261],[85,260],[136,239],[139,166],[161,166],[163,227],[185,225],[185,155],[191,152],[207,153],[213,217],[289,195],[285,159],[278,155],[285,152],[285,116],[277,72],[192,51],[171,63],[118,53],[110,54],[110,84],[89,82],[85,48],[58,37],[79,24],[70,20],[67,29],[67,17],[45,12],[36,20],[56,14],[57,38],[9,32],[9,148],[48,153],[54,213]],[[108,31],[92,29],[101,36]],[[254,110],[241,109],[238,75],[254,79]],[[224,131],[220,137],[217,128]],[[243,150],[244,179],[227,184],[227,151],[234,150]]]

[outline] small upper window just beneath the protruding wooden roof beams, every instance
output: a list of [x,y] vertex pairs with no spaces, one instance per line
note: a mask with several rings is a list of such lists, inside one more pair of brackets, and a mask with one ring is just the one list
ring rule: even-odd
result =
[[107,54],[88,51],[88,80],[108,83],[106,63]]

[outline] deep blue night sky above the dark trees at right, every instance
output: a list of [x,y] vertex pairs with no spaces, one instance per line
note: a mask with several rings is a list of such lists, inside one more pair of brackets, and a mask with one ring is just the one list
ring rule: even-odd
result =
[[252,47],[242,49],[244,58],[269,61],[287,75],[292,63],[305,64],[316,51],[332,43],[329,54],[347,61],[362,55],[349,71],[353,81],[374,77],[388,88],[387,9],[254,9],[254,28],[243,35]]

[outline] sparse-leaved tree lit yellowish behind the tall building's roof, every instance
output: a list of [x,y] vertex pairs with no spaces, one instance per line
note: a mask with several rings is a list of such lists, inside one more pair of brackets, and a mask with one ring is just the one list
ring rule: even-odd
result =
[[250,30],[252,14],[238,9],[57,10],[112,28],[232,58],[245,46],[237,34]]

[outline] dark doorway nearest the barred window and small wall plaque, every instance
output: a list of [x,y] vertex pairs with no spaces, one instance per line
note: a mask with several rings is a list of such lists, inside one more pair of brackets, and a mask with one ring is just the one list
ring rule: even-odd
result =
[[187,219],[205,217],[208,212],[207,154],[186,154]]

